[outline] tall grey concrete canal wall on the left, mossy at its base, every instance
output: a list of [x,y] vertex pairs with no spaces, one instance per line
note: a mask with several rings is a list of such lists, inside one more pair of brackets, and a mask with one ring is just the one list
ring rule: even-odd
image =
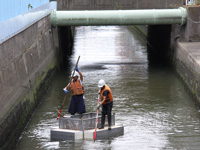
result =
[[57,68],[57,50],[49,15],[0,44],[0,149],[15,144],[40,103]]

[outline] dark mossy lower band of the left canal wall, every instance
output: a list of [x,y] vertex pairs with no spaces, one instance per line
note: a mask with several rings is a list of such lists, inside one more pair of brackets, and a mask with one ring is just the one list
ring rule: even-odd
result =
[[51,84],[57,72],[57,68],[57,60],[53,60],[43,71],[42,75],[37,77],[33,90],[19,98],[18,103],[10,109],[8,116],[0,125],[0,133],[4,135],[0,139],[0,149],[15,148],[24,127],[31,119],[33,112],[41,103],[42,97]]

